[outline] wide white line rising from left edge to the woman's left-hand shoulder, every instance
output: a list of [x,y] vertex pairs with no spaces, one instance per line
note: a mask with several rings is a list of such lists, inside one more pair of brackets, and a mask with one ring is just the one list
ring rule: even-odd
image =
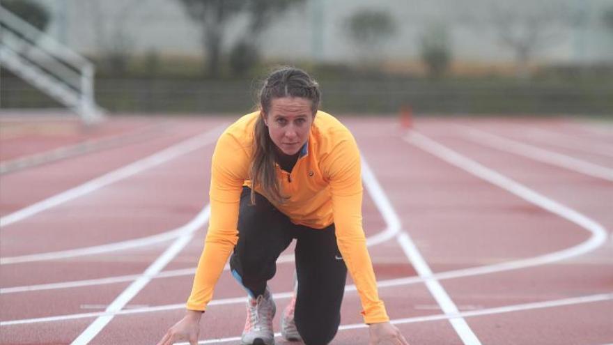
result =
[[94,178],[91,181],[83,183],[82,185],[73,187],[70,190],[66,190],[65,192],[56,194],[53,197],[49,197],[45,200],[37,202],[36,204],[32,204],[30,206],[27,206],[26,208],[17,210],[14,213],[10,213],[9,215],[3,216],[0,218],[0,229],[7,227],[8,225],[13,224],[15,222],[20,222],[21,220],[36,215],[37,213],[40,213],[44,210],[48,210],[49,208],[53,208],[54,206],[58,206],[72,199],[82,197],[83,195],[93,192],[95,190],[99,190],[100,188],[106,185],[110,185],[111,183],[120,181],[123,178],[127,178],[134,174],[138,174],[146,169],[150,169],[164,162],[168,162],[169,160],[177,158],[180,155],[185,155],[186,153],[195,151],[199,148],[202,148],[203,146],[207,146],[208,144],[214,142],[217,137],[219,137],[219,134],[224,128],[226,128],[225,124],[219,125],[212,130],[208,130],[201,135],[197,135],[195,137],[186,139],[185,141],[181,141],[178,144],[174,144],[173,146],[165,148],[158,153],[154,153],[147,158],[132,162],[125,167],[121,167],[119,169],[111,171],[98,178]]

